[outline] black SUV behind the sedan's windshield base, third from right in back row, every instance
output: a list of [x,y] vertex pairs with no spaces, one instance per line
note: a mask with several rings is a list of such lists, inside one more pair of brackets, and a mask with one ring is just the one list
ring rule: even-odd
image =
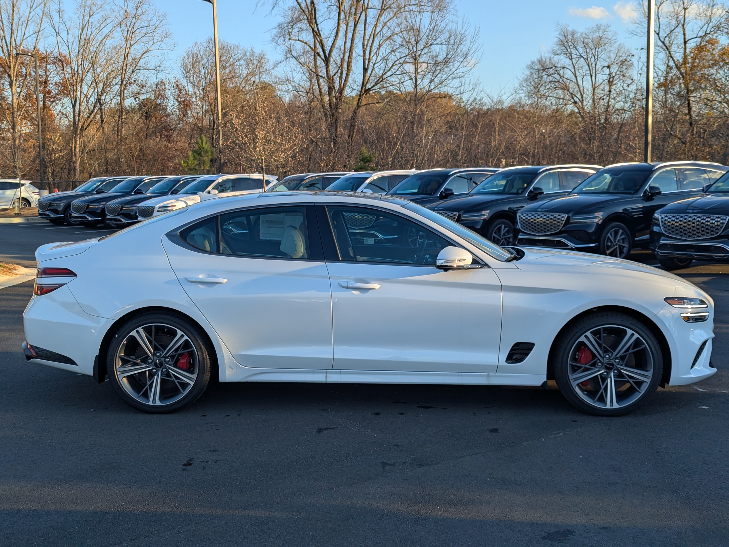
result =
[[428,209],[471,228],[497,245],[514,244],[517,212],[572,190],[601,169],[600,166],[520,166],[502,169],[484,180],[467,195]]

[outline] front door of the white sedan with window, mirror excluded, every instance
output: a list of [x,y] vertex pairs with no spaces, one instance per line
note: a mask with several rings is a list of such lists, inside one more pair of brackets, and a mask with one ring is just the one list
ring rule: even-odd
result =
[[435,268],[451,241],[394,212],[318,207],[335,370],[496,371],[502,297],[493,270]]

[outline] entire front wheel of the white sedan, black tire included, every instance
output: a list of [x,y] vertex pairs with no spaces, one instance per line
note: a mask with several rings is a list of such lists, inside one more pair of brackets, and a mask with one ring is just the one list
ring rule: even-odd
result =
[[[588,334],[593,335],[594,344],[586,341]],[[626,353],[609,355],[631,335],[636,338]],[[596,356],[590,347],[604,353]],[[655,336],[638,319],[604,311],[569,325],[555,341],[550,367],[562,395],[573,406],[598,416],[620,416],[655,393],[663,375],[663,354]]]

